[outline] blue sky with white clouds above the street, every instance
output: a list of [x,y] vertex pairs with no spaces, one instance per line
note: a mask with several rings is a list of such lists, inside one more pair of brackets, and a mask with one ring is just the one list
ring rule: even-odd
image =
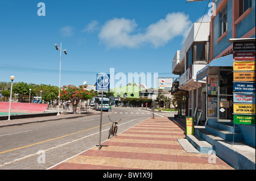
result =
[[[46,15],[38,16],[38,3]],[[96,82],[96,74],[171,74],[171,61],[208,1],[0,0],[0,82],[61,86]],[[210,7],[208,7],[210,9]],[[115,80],[117,82],[118,80]]]

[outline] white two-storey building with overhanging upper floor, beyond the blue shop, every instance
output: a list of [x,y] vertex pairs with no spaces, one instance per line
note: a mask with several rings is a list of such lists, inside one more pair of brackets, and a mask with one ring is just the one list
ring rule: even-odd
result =
[[[179,108],[185,108],[185,116],[205,120],[206,78],[196,81],[197,71],[209,62],[210,22],[194,23],[184,41],[183,47],[176,52],[172,61],[172,73],[180,75],[174,81],[172,95],[182,100]],[[178,84],[178,85],[177,85]],[[180,98],[180,96],[183,96]],[[185,98],[185,100],[184,100]]]

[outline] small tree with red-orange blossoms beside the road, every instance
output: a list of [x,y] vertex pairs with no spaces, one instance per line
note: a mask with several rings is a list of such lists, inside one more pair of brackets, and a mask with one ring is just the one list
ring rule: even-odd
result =
[[63,86],[60,90],[60,99],[71,101],[73,113],[76,112],[76,107],[80,100],[89,100],[95,95],[96,93],[93,90],[88,91],[72,85]]

